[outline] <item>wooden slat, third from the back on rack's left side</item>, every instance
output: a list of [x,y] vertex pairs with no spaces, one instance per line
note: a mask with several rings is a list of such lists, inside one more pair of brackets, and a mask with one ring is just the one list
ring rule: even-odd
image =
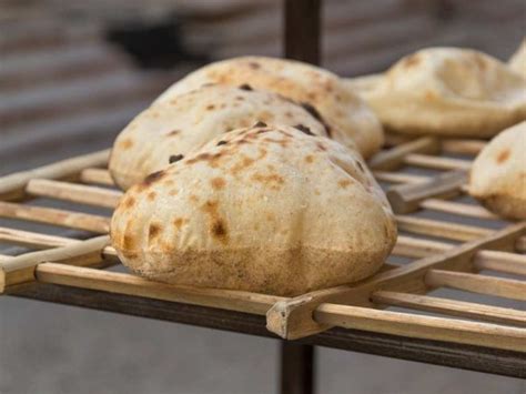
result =
[[110,219],[105,216],[3,201],[0,201],[0,218],[48,223],[100,234],[105,234],[110,231]]

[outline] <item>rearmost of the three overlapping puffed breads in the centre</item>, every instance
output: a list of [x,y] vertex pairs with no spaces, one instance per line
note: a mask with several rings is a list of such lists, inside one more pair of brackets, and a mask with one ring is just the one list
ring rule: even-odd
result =
[[224,60],[199,69],[174,83],[158,102],[169,101],[204,83],[249,84],[306,103],[330,125],[331,138],[346,147],[352,147],[354,141],[365,158],[383,145],[382,125],[373,111],[345,89],[342,79],[323,69],[299,61],[263,57]]

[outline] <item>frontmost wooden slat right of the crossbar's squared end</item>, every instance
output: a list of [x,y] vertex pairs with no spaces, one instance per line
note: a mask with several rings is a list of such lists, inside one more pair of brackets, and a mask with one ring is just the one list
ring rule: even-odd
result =
[[314,319],[330,326],[526,352],[526,330],[497,324],[326,303]]

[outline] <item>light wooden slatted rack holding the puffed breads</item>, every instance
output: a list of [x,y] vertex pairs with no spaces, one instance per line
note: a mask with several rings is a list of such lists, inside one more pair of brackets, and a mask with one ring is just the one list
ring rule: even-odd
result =
[[[115,272],[108,231],[121,192],[109,150],[11,174],[0,179],[0,216],[11,219],[0,242],[23,250],[0,256],[0,293],[526,377],[526,223],[466,201],[466,170],[484,144],[390,137],[370,165],[396,213],[392,256],[368,280],[292,299]],[[68,209],[40,203],[50,200]],[[70,232],[20,230],[21,221]],[[479,299],[427,294],[444,287]]]

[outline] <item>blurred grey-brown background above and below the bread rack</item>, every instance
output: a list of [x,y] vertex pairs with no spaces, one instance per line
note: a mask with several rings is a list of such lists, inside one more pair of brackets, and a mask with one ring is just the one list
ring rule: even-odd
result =
[[[325,0],[323,67],[386,69],[429,46],[506,60],[524,0]],[[111,145],[206,62],[282,54],[282,2],[0,1],[0,174]],[[277,342],[0,300],[0,393],[272,393]],[[318,348],[318,393],[526,393],[525,382]]]

